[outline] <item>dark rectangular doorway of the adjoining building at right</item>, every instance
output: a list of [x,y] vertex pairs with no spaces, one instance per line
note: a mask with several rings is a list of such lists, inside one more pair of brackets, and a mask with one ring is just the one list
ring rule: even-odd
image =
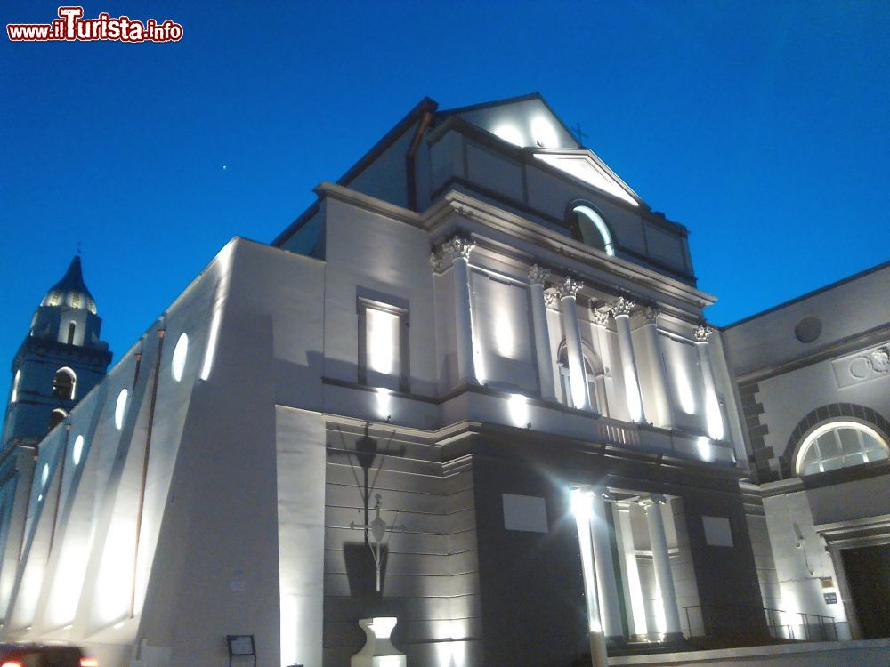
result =
[[890,544],[841,550],[862,639],[890,637]]

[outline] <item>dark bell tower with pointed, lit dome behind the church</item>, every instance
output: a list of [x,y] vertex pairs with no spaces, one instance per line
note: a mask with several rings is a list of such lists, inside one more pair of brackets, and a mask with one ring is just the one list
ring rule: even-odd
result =
[[105,376],[111,353],[100,340],[101,317],[86,288],[80,255],[45,294],[12,360],[3,450],[38,441]]

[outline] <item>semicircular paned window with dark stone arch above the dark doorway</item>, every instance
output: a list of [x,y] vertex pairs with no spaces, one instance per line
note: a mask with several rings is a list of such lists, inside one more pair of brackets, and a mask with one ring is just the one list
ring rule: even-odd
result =
[[877,430],[860,422],[827,422],[804,440],[797,454],[798,475],[815,475],[890,458]]

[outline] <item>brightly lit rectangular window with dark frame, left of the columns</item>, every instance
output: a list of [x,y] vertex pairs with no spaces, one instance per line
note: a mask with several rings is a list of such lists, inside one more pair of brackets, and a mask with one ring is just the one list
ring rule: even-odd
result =
[[359,383],[409,391],[408,309],[358,299]]

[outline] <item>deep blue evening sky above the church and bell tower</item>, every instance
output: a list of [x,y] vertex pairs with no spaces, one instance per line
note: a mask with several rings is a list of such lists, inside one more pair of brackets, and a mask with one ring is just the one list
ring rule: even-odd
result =
[[[0,18],[57,6],[7,0]],[[270,241],[425,95],[542,92],[691,230],[716,324],[890,258],[890,3],[85,4],[99,12],[184,36],[0,40],[4,365],[78,241],[117,359],[230,237]]]

